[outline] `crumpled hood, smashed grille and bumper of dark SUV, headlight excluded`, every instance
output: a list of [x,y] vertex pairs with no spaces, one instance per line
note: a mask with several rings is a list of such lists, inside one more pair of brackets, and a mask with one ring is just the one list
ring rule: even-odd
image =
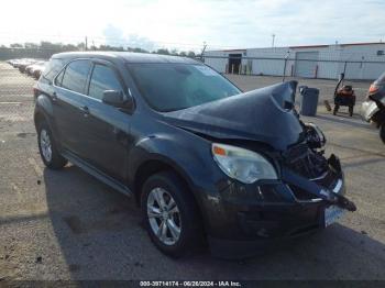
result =
[[252,184],[223,178],[218,197],[209,192],[201,201],[211,252],[219,257],[253,256],[356,210],[345,197],[339,158],[324,157],[324,135],[294,109],[296,86],[285,82],[165,114],[172,125],[263,155],[277,171],[277,179]]

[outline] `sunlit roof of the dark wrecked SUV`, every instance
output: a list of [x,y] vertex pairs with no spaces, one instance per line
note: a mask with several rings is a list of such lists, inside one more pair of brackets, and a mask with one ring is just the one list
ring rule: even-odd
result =
[[123,60],[124,63],[180,63],[180,64],[201,64],[195,59],[180,56],[160,55],[152,53],[135,53],[135,52],[66,52],[54,54],[52,58],[101,58],[109,60]]

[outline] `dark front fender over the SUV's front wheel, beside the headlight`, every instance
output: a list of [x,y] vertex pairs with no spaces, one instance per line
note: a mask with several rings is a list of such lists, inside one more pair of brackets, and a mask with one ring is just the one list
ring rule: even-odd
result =
[[[200,143],[197,144],[198,141]],[[131,148],[129,159],[131,187],[139,168],[150,160],[160,160],[173,167],[186,180],[196,198],[202,196],[201,191],[205,191],[204,195],[216,195],[218,186],[227,184],[212,159],[210,142],[193,134],[191,137],[174,134],[142,139]]]

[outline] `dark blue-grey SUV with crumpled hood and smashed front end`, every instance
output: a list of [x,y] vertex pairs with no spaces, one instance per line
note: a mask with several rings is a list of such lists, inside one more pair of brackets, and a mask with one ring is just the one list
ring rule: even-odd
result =
[[250,257],[334,222],[354,204],[324,136],[294,110],[296,82],[242,93],[189,58],[54,55],[34,87],[42,160],[133,196],[153,243],[180,256],[208,239]]

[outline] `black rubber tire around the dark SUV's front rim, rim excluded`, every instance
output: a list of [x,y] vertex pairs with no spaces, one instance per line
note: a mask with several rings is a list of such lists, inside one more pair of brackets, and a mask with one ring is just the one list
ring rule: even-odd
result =
[[[162,188],[168,192],[175,200],[178,208],[178,219],[180,219],[180,234],[178,240],[174,244],[165,244],[155,234],[150,223],[150,217],[147,213],[147,200],[150,193],[156,188]],[[151,200],[151,199],[150,199]],[[180,257],[186,255],[187,252],[194,250],[199,243],[202,242],[202,225],[199,214],[199,210],[195,202],[195,198],[189,192],[184,181],[173,171],[162,171],[151,176],[142,187],[141,193],[141,209],[145,229],[155,244],[155,246],[164,254],[172,257]],[[161,213],[162,214],[162,213]],[[155,218],[153,218],[155,219]],[[161,218],[156,218],[156,221],[166,221]],[[161,229],[160,229],[161,230]],[[166,228],[169,237],[172,239],[172,231]]]

